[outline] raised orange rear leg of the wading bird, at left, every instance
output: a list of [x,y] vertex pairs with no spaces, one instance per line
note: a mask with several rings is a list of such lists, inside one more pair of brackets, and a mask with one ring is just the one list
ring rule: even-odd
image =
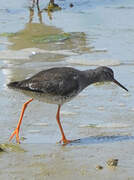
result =
[[22,106],[22,111],[21,111],[21,115],[20,115],[20,119],[19,119],[19,122],[17,124],[17,128],[14,130],[14,132],[12,133],[12,135],[10,136],[9,138],[9,141],[11,141],[11,139],[15,136],[16,134],[16,142],[17,143],[20,143],[20,139],[19,139],[19,130],[20,130],[20,125],[21,125],[21,122],[22,122],[22,119],[23,119],[23,115],[24,115],[24,112],[27,108],[27,105],[33,101],[33,99],[30,99],[29,101],[25,102]]

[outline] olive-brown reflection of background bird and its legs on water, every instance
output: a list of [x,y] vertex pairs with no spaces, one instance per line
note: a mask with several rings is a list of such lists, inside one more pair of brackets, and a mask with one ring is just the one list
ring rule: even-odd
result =
[[[20,50],[25,48],[40,48],[45,50],[70,50],[90,52],[91,48],[86,47],[86,35],[83,32],[65,33],[61,28],[45,24],[45,11],[39,5],[32,4],[29,7],[29,19],[24,29],[8,37],[12,43],[8,48]],[[47,12],[52,19],[52,13]],[[34,19],[38,17],[38,22]],[[43,39],[45,39],[43,41]]]

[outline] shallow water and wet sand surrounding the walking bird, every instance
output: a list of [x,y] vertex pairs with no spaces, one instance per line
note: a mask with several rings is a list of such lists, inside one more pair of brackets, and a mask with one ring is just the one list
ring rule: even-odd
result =
[[[96,84],[65,104],[61,121],[66,135],[80,140],[64,147],[56,144],[61,137],[55,120],[57,106],[33,101],[20,134],[24,137],[20,147],[26,152],[7,148],[1,153],[0,179],[133,179],[134,2],[56,3],[63,9],[50,16],[45,11],[39,14],[36,7],[31,11],[28,0],[1,1],[0,142],[8,142],[21,106],[28,99],[8,89],[10,81],[55,66],[84,70],[107,65],[129,92],[114,84]],[[46,0],[41,1],[40,9],[46,5]],[[62,39],[64,33],[68,33],[67,39]],[[47,35],[54,39],[33,41]],[[119,159],[116,170],[106,167],[110,158]],[[98,164],[104,166],[102,171],[96,170]]]

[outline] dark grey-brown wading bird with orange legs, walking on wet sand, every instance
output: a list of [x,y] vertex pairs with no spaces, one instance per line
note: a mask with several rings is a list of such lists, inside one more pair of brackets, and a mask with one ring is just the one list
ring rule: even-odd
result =
[[14,130],[9,140],[16,135],[16,141],[20,143],[19,130],[23,115],[27,105],[35,98],[46,103],[58,105],[56,119],[62,135],[60,142],[62,144],[72,142],[66,138],[60,123],[61,106],[77,96],[90,84],[105,81],[114,82],[128,91],[127,88],[115,80],[113,70],[105,66],[85,71],[80,71],[71,67],[56,67],[43,70],[31,78],[9,83],[8,87],[20,89],[23,93],[31,97],[29,101],[23,104],[17,128]]

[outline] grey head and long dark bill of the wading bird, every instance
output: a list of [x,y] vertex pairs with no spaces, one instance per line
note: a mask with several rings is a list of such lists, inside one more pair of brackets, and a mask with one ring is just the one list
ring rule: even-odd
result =
[[128,91],[127,88],[125,88],[122,84],[120,84],[115,78],[114,78],[114,72],[111,68],[106,67],[106,66],[100,66],[98,68],[96,68],[96,73],[97,73],[97,77],[98,77],[98,81],[99,82],[104,82],[104,81],[110,81],[110,82],[114,82],[115,84],[117,84],[118,86],[120,86],[121,88],[125,89],[126,91]]

